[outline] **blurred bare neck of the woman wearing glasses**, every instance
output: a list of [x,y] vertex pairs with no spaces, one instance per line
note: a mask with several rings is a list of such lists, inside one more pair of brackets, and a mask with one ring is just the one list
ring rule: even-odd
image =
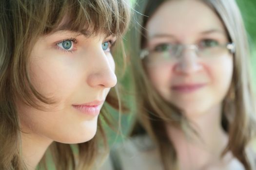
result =
[[171,125],[167,133],[177,152],[181,170],[199,170],[213,162],[219,162],[228,142],[228,136],[221,127],[221,106],[196,118],[188,118],[197,134]]

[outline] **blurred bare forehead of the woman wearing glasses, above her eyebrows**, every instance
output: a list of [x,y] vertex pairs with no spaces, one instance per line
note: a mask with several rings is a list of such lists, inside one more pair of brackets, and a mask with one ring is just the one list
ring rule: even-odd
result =
[[172,34],[186,38],[209,30],[225,32],[213,9],[200,0],[168,0],[149,19],[147,35]]

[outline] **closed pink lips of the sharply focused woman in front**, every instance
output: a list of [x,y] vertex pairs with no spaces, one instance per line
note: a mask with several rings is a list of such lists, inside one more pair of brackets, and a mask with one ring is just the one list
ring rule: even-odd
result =
[[93,101],[83,104],[73,104],[72,106],[81,113],[91,116],[97,116],[100,112],[100,106],[104,101]]

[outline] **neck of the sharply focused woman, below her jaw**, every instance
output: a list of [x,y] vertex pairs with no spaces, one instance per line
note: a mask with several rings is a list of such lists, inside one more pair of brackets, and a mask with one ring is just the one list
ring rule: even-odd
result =
[[28,170],[35,170],[52,140],[32,133],[21,133],[22,156]]

